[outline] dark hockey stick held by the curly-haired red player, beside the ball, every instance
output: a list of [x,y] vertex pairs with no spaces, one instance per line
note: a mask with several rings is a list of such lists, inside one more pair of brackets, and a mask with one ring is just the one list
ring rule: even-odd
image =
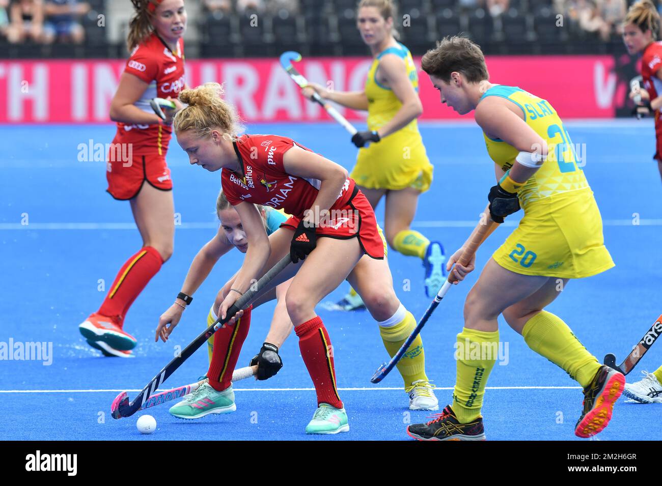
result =
[[126,394],[126,391],[122,391],[119,395],[117,395],[117,398],[113,401],[113,405],[111,405],[111,413],[113,415],[113,419],[120,419],[122,417],[130,417],[134,413],[136,413],[138,410],[140,410],[140,407],[144,405],[150,396],[156,391],[156,389],[167,380],[167,378],[181,366],[183,362],[185,362],[191,354],[193,354],[195,351],[198,350],[200,346],[205,344],[205,341],[209,339],[210,337],[213,336],[213,334],[220,329],[225,323],[230,321],[232,317],[240,310],[248,308],[248,306],[253,302],[256,297],[258,296],[258,293],[261,292],[279,274],[287,265],[291,263],[291,259],[289,256],[289,253],[281,259],[277,264],[271,268],[258,282],[254,285],[251,286],[250,290],[246,292],[243,296],[241,296],[237,302],[232,304],[230,306],[230,309],[228,309],[228,312],[226,313],[225,319],[220,319],[220,316],[218,319],[216,319],[216,322],[213,323],[211,326],[207,328],[207,330],[203,331],[201,335],[199,335],[197,338],[195,338],[195,341],[193,343],[189,344],[184,348],[184,350],[176,356],[171,362],[166,364],[164,368],[158,372],[158,374],[152,378],[152,381],[150,381],[146,387],[140,391],[138,396],[131,402],[129,403],[128,401],[128,395]]

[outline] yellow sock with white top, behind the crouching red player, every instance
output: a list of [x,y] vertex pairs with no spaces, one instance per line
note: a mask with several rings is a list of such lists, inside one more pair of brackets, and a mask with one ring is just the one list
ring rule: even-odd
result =
[[[390,319],[379,323],[381,340],[384,342],[384,347],[389,352],[391,358],[400,350],[404,341],[407,340],[415,328],[416,319],[414,319],[412,313],[405,309],[402,304],[400,304],[400,307]],[[428,381],[428,377],[425,374],[423,340],[420,334],[416,336],[416,339],[407,348],[396,366],[402,376],[402,380],[404,380],[405,391],[409,391],[408,389],[416,380]]]

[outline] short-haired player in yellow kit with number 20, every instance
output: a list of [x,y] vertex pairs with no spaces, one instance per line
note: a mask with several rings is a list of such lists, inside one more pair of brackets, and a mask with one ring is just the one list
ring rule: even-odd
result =
[[[625,377],[603,366],[560,317],[547,312],[571,278],[614,266],[604,247],[602,220],[591,187],[577,162],[567,130],[551,104],[518,88],[496,85],[483,52],[469,39],[444,38],[422,60],[441,102],[459,114],[475,110],[496,180],[487,208],[495,222],[520,209],[524,218],[487,262],[464,307],[457,335],[453,405],[426,424],[408,426],[421,440],[484,440],[481,407],[498,345],[497,317],[524,337],[532,350],[565,370],[584,388],[575,434],[600,432],[612,416]],[[471,272],[448,261],[458,280]],[[480,352],[474,352],[476,349]]]

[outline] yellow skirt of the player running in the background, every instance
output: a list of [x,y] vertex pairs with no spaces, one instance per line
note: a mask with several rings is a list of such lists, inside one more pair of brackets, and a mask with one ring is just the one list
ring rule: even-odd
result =
[[350,177],[368,189],[412,187],[426,192],[432,184],[432,171],[420,134],[396,132],[359,149]]

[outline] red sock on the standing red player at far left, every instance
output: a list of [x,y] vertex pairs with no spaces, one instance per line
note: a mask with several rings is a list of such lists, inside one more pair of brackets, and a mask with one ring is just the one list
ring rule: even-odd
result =
[[163,263],[155,248],[142,247],[120,268],[113,286],[99,307],[99,313],[107,317],[117,317],[121,327],[129,307]]

